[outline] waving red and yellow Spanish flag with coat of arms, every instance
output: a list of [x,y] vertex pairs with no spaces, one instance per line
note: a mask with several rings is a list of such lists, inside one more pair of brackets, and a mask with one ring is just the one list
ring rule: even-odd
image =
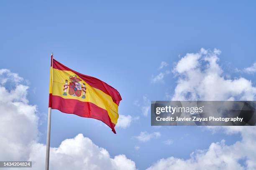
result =
[[51,55],[49,107],[64,113],[101,120],[115,133],[119,92],[107,83],[71,70]]

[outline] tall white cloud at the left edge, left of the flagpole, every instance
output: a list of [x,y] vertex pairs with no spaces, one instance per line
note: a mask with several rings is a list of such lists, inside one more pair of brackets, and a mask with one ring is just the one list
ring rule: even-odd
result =
[[[8,79],[4,77],[4,80]],[[0,85],[0,160],[28,159],[28,148],[37,139],[37,110],[36,105],[28,105],[27,89],[26,85],[17,85],[7,90]]]

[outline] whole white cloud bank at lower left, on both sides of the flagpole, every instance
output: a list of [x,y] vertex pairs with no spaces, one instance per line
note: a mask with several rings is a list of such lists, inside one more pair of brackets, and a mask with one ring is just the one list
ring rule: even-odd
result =
[[[3,75],[5,73],[5,75]],[[29,105],[26,97],[28,86],[6,69],[0,70],[0,160],[31,160],[32,168],[43,170],[46,145],[38,143],[38,115],[36,105]],[[3,81],[4,80],[4,81]],[[7,80],[7,81],[5,81]],[[4,84],[13,82],[13,89]],[[61,142],[58,148],[50,148],[51,170],[135,170],[135,163],[125,155],[112,158],[108,151],[92,140],[78,134]]]

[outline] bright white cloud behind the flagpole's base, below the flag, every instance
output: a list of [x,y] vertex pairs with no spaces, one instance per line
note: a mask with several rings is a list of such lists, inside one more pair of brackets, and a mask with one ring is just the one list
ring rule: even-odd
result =
[[[46,146],[40,143],[32,145],[30,160],[33,168],[44,168],[44,155]],[[42,161],[41,161],[42,160]],[[135,163],[125,155],[117,155],[111,158],[108,151],[95,145],[92,140],[78,134],[75,138],[66,139],[58,148],[51,148],[50,167],[53,170],[102,170],[108,167],[110,170],[135,170]]]

